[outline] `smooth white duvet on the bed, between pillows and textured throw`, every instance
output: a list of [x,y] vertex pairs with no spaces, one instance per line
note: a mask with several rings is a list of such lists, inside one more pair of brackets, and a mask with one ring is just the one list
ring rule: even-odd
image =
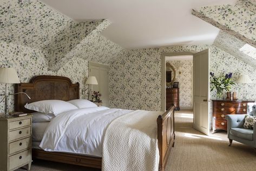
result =
[[109,123],[131,111],[95,107],[61,113],[51,120],[40,147],[50,152],[102,156],[103,135]]

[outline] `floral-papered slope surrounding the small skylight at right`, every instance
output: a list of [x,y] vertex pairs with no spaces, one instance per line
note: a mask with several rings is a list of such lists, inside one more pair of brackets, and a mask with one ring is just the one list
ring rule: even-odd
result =
[[[256,68],[256,58],[246,55],[240,51],[246,43],[239,40],[237,37],[229,35],[227,32],[220,30],[213,45],[228,52],[229,54],[239,58],[241,61]],[[255,55],[254,55],[255,56]]]

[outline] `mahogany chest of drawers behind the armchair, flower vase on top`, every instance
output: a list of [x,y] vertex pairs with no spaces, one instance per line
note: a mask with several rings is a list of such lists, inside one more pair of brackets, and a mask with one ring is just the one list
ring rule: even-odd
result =
[[247,103],[254,101],[231,101],[231,100],[212,100],[213,102],[213,133],[217,129],[227,130],[226,115],[246,114]]

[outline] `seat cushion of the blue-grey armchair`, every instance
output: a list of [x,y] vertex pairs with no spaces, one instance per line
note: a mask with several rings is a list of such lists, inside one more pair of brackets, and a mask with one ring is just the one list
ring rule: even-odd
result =
[[243,128],[231,128],[230,134],[240,137],[241,139],[253,140],[253,130]]

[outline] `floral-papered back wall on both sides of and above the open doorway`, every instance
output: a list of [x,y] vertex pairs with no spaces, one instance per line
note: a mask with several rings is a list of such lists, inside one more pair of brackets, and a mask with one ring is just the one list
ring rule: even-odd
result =
[[[163,52],[199,52],[210,49],[210,71],[216,75],[232,72],[237,81],[240,74],[250,75],[254,83],[245,85],[248,99],[256,100],[256,69],[214,45],[179,45],[123,51],[111,61],[109,71],[110,107],[161,110],[161,54]],[[242,98],[241,84],[234,86]],[[211,92],[211,99],[216,98]]]

